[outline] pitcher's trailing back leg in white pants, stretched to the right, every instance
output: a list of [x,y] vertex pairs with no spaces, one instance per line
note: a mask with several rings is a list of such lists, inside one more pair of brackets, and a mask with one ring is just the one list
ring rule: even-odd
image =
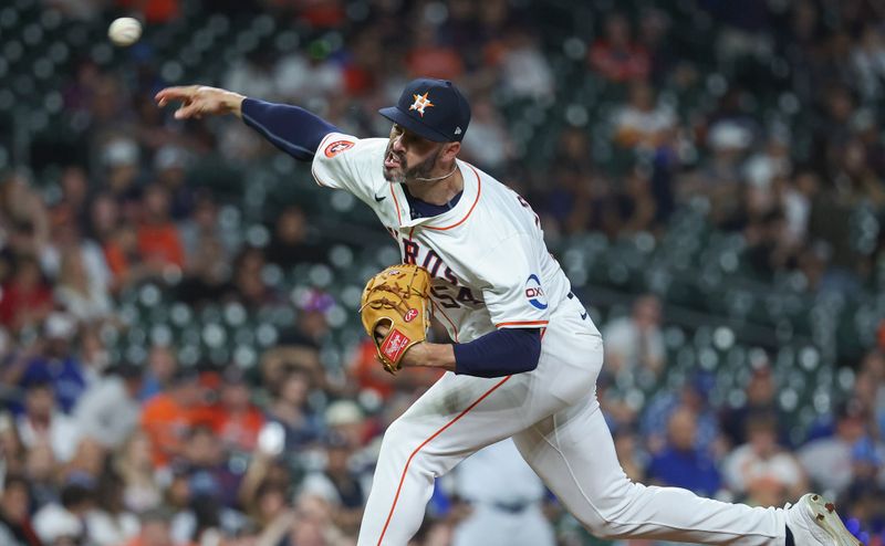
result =
[[784,511],[701,498],[627,479],[595,396],[513,437],[525,461],[598,537],[783,545]]

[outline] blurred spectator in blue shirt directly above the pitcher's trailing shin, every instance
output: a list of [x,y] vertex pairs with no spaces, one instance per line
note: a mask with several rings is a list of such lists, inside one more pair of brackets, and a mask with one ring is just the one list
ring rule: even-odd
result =
[[662,485],[685,487],[714,496],[721,479],[714,461],[695,449],[697,416],[688,408],[673,412],[667,424],[667,445],[652,459],[648,477]]

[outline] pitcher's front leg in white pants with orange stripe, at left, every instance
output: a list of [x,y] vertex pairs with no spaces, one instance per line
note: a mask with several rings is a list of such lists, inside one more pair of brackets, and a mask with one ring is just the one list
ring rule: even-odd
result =
[[524,429],[529,375],[498,379],[446,374],[384,433],[360,546],[408,543],[434,479],[490,443]]

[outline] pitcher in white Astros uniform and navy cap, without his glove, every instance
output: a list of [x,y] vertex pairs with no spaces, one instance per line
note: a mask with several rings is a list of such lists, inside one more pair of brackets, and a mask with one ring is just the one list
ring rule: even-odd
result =
[[434,479],[508,437],[598,537],[860,544],[820,495],[784,508],[750,507],[627,479],[595,398],[600,332],[546,251],[529,203],[458,159],[470,108],[450,82],[408,83],[396,105],[379,111],[393,122],[387,138],[357,138],[303,108],[212,87],[170,87],[156,98],[160,106],[181,102],[179,119],[235,114],[312,161],[319,185],[371,207],[403,262],[431,276],[434,311],[455,343],[414,344],[399,364],[448,372],[385,432],[361,546],[407,544]]

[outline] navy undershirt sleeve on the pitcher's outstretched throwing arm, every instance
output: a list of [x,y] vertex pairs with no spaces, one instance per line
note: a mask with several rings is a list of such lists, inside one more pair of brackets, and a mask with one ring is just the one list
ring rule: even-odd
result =
[[302,161],[313,159],[326,135],[341,133],[337,127],[304,108],[256,98],[242,102],[242,120],[271,144]]

